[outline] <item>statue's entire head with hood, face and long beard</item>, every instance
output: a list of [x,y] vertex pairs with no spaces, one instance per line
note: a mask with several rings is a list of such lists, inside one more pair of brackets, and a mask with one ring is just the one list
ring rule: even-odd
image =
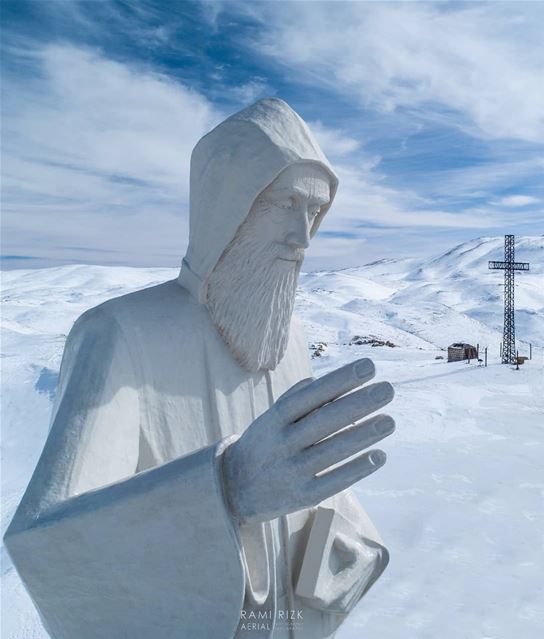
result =
[[304,248],[337,183],[306,124],[277,99],[233,115],[193,151],[180,283],[246,370],[274,369],[284,355]]

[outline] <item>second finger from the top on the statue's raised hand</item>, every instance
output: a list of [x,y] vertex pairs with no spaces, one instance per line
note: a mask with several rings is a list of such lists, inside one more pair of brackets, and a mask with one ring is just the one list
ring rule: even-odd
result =
[[389,382],[365,386],[323,406],[296,424],[290,424],[286,429],[288,438],[294,446],[312,446],[383,408],[394,395],[395,391]]

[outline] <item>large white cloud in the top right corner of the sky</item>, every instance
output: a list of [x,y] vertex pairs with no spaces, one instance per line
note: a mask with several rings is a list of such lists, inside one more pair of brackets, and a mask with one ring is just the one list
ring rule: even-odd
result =
[[284,9],[253,7],[269,12],[255,46],[305,82],[382,111],[453,111],[452,123],[487,138],[544,140],[544,5],[301,2]]

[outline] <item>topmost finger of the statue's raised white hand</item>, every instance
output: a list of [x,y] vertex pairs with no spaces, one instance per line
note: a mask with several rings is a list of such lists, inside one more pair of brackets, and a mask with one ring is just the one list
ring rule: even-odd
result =
[[359,359],[323,375],[296,393],[281,397],[276,407],[284,423],[289,424],[368,382],[375,372],[370,359]]

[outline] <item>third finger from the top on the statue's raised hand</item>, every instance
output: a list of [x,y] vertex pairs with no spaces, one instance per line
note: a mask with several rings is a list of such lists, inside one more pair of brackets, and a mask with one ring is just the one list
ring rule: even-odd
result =
[[301,452],[301,462],[312,474],[321,472],[348,457],[373,446],[395,430],[389,415],[376,415],[364,422],[345,428],[333,437],[322,440]]

